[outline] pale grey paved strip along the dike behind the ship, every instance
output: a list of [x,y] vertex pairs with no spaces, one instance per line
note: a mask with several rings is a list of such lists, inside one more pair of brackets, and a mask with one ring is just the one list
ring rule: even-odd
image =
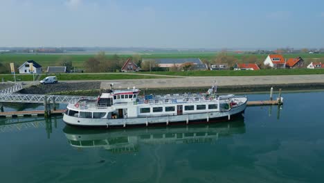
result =
[[109,88],[111,82],[118,82],[121,88],[170,88],[170,87],[209,87],[214,81],[218,86],[234,85],[271,85],[294,83],[324,83],[324,75],[289,75],[289,76],[215,76],[215,77],[186,77],[160,78],[145,80],[109,80],[102,81],[101,88]]

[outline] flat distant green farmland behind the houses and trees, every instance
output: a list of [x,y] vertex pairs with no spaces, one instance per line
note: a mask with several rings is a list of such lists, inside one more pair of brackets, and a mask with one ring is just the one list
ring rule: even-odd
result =
[[[213,52],[166,52],[166,53],[140,53],[141,58],[201,58],[201,60],[211,60],[215,58],[217,53]],[[258,58],[258,61],[262,62],[267,55],[265,54],[237,54],[237,53],[228,53],[228,55],[233,55],[240,62],[242,57],[244,56],[255,56]],[[324,58],[324,53],[321,54],[308,54],[308,53],[300,53],[300,54],[283,54],[285,58],[296,58],[298,56],[302,57],[306,63],[316,61],[320,58]],[[84,62],[89,60],[89,58],[93,57],[93,55],[50,55],[50,54],[0,54],[0,62],[4,64],[9,64],[10,62],[15,62],[17,65],[23,64],[27,60],[35,60],[39,64],[42,65],[44,69],[48,66],[55,66],[58,64],[60,58],[68,56],[71,58],[73,62],[73,67],[78,69],[84,69]],[[107,53],[107,58],[111,58],[113,55],[109,55]],[[118,55],[120,58],[126,60],[132,55]]]

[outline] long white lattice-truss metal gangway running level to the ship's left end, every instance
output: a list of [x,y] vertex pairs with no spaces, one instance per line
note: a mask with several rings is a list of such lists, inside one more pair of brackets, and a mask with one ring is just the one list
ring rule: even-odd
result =
[[39,95],[39,94],[0,94],[0,103],[44,103],[44,98],[55,103],[73,103],[78,100],[96,100],[93,96],[64,96],[64,95]]

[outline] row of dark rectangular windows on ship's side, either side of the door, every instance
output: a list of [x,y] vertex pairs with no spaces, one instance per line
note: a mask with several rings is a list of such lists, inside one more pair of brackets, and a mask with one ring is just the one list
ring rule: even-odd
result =
[[[217,104],[210,104],[208,105],[208,110],[215,110],[217,109]],[[184,107],[185,111],[195,110],[195,105],[185,105]],[[206,105],[196,105],[196,110],[206,110]],[[152,107],[153,112],[163,112],[163,107]],[[165,107],[165,112],[174,112],[175,107]],[[141,113],[150,113],[151,108],[150,107],[144,107],[140,109]]]

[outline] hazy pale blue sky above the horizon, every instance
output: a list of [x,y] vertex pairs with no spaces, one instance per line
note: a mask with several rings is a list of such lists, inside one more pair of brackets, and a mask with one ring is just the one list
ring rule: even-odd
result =
[[0,46],[324,47],[324,1],[0,0],[0,4]]

